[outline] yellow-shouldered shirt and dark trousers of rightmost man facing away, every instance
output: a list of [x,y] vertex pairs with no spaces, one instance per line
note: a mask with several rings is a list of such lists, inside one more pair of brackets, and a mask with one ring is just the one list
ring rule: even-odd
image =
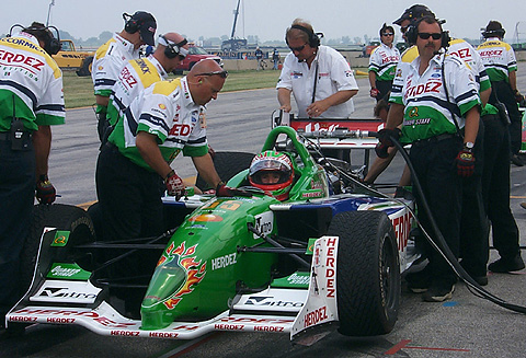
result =
[[477,50],[485,66],[493,89],[490,103],[502,102],[507,109],[510,120],[511,152],[517,153],[522,146],[522,123],[515,94],[510,86],[510,72],[517,70],[517,60],[512,46],[499,39],[487,38]]

